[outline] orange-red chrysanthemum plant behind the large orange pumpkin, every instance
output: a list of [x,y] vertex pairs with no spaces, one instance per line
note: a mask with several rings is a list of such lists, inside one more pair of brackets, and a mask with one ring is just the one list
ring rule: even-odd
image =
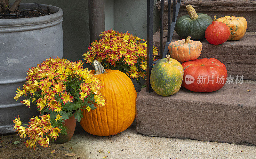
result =
[[[130,78],[135,78],[141,85],[145,79],[147,69],[147,44],[144,39],[134,37],[129,32],[105,31],[102,38],[94,41],[84,53],[84,60],[92,63],[98,60],[104,68],[116,69],[124,72]],[[158,49],[153,46],[153,60],[158,55]],[[143,84],[143,83],[142,83]]]

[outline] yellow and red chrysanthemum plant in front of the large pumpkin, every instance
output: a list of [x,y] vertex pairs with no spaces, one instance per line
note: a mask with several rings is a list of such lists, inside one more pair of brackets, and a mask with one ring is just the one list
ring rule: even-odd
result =
[[17,89],[14,99],[24,96],[20,102],[29,108],[32,102],[41,116],[31,118],[28,124],[21,123],[19,116],[13,120],[20,137],[28,137],[26,147],[48,147],[49,139],[57,139],[59,133],[67,134],[64,120],[74,115],[79,122],[82,109],[90,111],[95,106],[105,106],[106,99],[100,94],[101,81],[83,64],[81,60],[71,62],[57,57],[29,68],[27,82],[23,89]]

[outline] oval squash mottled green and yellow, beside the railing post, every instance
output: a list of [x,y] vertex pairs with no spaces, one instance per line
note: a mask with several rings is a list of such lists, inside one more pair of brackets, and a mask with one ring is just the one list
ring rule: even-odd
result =
[[177,93],[183,80],[183,67],[179,61],[171,59],[170,55],[156,62],[150,75],[153,90],[161,96]]

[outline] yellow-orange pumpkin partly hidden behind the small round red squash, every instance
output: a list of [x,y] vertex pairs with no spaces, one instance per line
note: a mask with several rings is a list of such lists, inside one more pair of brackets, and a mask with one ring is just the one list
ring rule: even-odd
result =
[[247,28],[247,21],[244,17],[225,16],[218,18],[217,21],[228,25],[230,29],[228,40],[240,40],[243,38]]

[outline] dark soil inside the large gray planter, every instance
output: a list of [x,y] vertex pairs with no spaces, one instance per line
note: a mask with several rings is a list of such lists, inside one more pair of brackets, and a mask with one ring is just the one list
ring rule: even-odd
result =
[[[27,13],[26,13],[27,12]],[[33,17],[40,17],[44,16],[45,14],[53,14],[55,12],[50,12],[49,10],[38,10],[38,11],[31,11],[31,10],[15,10],[11,13],[9,10],[6,10],[5,13],[0,13],[0,19],[19,19],[19,18],[33,18]],[[15,14],[15,16],[6,16],[10,14]],[[18,16],[16,16],[18,15]]]

